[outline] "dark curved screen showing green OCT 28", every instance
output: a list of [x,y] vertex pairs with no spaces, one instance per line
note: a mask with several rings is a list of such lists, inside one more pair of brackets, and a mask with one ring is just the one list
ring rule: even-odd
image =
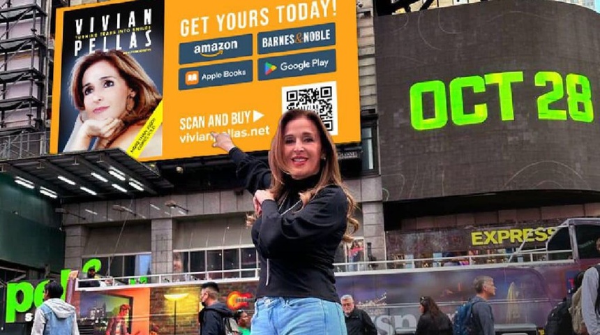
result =
[[512,0],[377,17],[389,200],[599,190],[599,18]]

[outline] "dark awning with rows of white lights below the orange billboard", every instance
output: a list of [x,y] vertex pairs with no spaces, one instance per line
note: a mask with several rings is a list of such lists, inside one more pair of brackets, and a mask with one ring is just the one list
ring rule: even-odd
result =
[[0,173],[50,198],[93,201],[142,198],[173,188],[157,170],[121,149],[79,151],[0,161]]

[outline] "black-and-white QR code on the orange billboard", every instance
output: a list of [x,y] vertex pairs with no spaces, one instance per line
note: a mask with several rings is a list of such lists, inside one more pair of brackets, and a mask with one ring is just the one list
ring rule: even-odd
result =
[[331,135],[338,135],[338,90],[336,82],[315,82],[281,88],[282,113],[314,110]]

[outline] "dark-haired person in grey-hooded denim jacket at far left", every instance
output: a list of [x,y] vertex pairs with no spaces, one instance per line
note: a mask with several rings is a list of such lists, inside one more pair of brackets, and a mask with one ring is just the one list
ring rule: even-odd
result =
[[62,295],[60,283],[44,286],[44,302],[36,309],[31,335],[79,335],[75,307],[62,301]]

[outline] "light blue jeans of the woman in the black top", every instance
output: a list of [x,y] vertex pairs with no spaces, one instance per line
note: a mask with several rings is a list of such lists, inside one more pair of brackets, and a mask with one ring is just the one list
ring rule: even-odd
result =
[[318,298],[260,298],[251,329],[252,335],[347,335],[342,306]]

